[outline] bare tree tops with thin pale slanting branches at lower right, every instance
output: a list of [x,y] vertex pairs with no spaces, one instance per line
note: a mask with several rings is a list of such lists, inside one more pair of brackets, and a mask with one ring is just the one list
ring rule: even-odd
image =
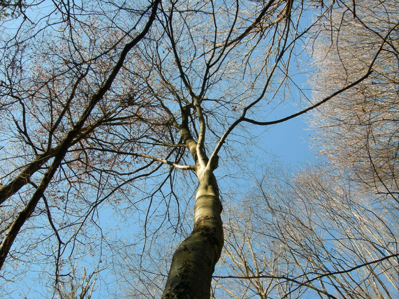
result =
[[228,269],[215,277],[226,298],[398,296],[392,197],[382,205],[345,173],[310,167],[291,179],[268,171],[245,202],[229,211]]

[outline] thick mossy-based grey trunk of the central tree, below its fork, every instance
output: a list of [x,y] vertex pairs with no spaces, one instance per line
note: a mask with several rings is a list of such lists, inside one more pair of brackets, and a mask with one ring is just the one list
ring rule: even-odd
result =
[[197,171],[194,229],[173,255],[162,299],[209,299],[214,266],[223,247],[222,206],[212,170]]

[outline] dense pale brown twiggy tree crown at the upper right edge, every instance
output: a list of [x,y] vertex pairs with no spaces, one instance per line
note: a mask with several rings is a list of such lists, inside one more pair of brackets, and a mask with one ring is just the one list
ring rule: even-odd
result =
[[398,2],[356,1],[356,12],[349,1],[343,5],[317,31],[315,98],[346,85],[375,60],[373,74],[312,113],[315,144],[368,188],[398,198]]

